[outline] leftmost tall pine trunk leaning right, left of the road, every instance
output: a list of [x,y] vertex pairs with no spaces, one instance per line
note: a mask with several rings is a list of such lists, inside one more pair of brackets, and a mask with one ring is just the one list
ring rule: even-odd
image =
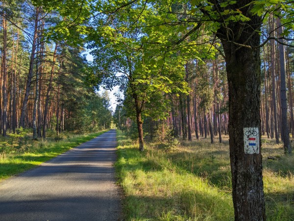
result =
[[26,82],[26,86],[25,86],[25,98],[23,101],[22,112],[21,112],[20,123],[19,123],[20,127],[25,127],[25,112],[26,112],[26,108],[27,108],[28,96],[29,96],[29,92],[30,92],[32,78],[33,78],[33,68],[34,68],[34,59],[35,59],[35,51],[36,51],[36,40],[38,37],[39,12],[40,12],[40,8],[37,7],[36,8],[36,16],[35,16],[34,36],[33,36],[33,42],[32,42],[32,51],[31,51],[31,55],[30,55],[27,82]]

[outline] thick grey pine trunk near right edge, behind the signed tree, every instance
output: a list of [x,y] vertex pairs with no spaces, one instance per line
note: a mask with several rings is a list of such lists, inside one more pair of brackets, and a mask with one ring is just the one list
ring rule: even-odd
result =
[[[281,37],[283,32],[283,27],[281,25],[280,19],[277,19],[278,27],[278,37]],[[281,39],[281,42],[284,42],[284,39]],[[282,111],[282,138],[284,142],[284,152],[285,154],[291,154],[292,148],[289,137],[289,128],[288,128],[288,119],[287,119],[287,95],[286,95],[286,61],[285,61],[285,47],[282,44],[279,44],[279,53],[280,53],[280,73],[281,73],[281,111]]]

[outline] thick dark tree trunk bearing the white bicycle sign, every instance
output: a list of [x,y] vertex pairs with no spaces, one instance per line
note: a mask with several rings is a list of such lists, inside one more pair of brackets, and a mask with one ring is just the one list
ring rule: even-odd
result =
[[[229,23],[220,28],[229,89],[229,144],[235,221],[265,221],[260,134],[260,44],[262,20],[251,15],[246,4],[237,1],[248,22]],[[220,10],[224,10],[219,8]],[[227,9],[227,8],[225,8]],[[227,33],[227,28],[232,32]],[[240,44],[240,45],[237,45]]]

